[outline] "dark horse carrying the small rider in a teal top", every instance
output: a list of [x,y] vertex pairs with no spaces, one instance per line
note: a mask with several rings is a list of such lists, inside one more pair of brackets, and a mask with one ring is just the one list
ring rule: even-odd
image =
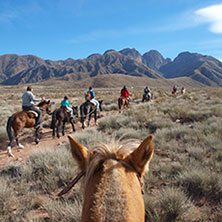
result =
[[[78,106],[72,106],[73,116],[78,118]],[[70,122],[72,125],[73,132],[75,132],[75,125],[74,119],[70,118],[70,113],[65,107],[57,108],[52,113],[52,121],[51,121],[51,129],[52,129],[52,136],[55,137],[55,129],[57,137],[60,138],[59,135],[59,128],[62,124],[62,135],[65,135],[65,124],[66,122]]]

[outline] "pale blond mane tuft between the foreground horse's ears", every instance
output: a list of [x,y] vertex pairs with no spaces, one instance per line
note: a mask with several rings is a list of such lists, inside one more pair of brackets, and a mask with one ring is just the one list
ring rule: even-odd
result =
[[123,160],[129,153],[131,153],[137,146],[137,140],[115,141],[110,144],[99,143],[90,149],[89,164],[86,169],[85,182],[99,169],[100,165],[108,159]]

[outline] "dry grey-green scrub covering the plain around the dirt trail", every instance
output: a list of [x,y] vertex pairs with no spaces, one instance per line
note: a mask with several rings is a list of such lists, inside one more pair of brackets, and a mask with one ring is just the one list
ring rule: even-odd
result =
[[[39,87],[39,88],[38,88]],[[45,89],[37,87],[37,94]],[[7,118],[19,110],[22,89],[10,93],[1,88],[0,97],[11,103],[1,106],[0,142],[7,140]],[[84,89],[50,87],[47,95],[73,96],[79,105]],[[132,89],[134,101],[128,110],[117,111],[118,90],[96,89],[104,100],[104,115],[97,128],[77,131],[73,136],[91,147],[97,141],[144,139],[152,133],[155,153],[145,176],[144,200],[148,221],[219,222],[222,203],[222,89],[189,89],[172,96],[153,89],[154,99],[141,103],[142,89]],[[15,96],[13,96],[15,94]],[[69,97],[71,97],[69,96]],[[80,97],[81,96],[81,97]],[[115,99],[114,99],[115,98]],[[16,105],[14,105],[16,104]],[[56,106],[56,105],[55,105]],[[46,122],[50,119],[46,119]],[[0,221],[80,221],[82,193],[78,183],[63,198],[56,194],[77,174],[69,144],[34,152],[23,164],[0,169]]]

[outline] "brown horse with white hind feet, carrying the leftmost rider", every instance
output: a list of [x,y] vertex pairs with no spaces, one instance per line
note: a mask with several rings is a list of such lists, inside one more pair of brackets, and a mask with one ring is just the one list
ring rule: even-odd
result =
[[[37,106],[42,111],[42,121],[44,119],[45,113],[51,115],[50,100],[48,101],[44,100],[40,102]],[[32,128],[35,126],[36,115],[37,113],[35,113],[32,110],[29,110],[29,111],[20,111],[20,112],[14,113],[12,116],[8,118],[6,131],[10,140],[7,147],[7,152],[9,156],[12,156],[12,157],[14,156],[11,152],[12,142],[14,141],[14,139],[16,139],[17,146],[19,146],[20,148],[24,148],[24,146],[18,141],[19,133],[21,133],[23,128]],[[14,135],[13,135],[12,129],[14,131]],[[39,143],[39,137],[40,137],[40,128],[37,128],[35,130],[35,143],[36,144]]]

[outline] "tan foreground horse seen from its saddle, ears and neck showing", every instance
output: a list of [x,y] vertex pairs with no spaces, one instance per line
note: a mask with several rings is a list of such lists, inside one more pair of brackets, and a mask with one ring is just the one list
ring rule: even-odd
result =
[[133,144],[114,143],[88,150],[71,136],[68,138],[72,156],[81,175],[85,174],[81,221],[145,221],[142,182],[154,152],[152,135],[130,151]]

